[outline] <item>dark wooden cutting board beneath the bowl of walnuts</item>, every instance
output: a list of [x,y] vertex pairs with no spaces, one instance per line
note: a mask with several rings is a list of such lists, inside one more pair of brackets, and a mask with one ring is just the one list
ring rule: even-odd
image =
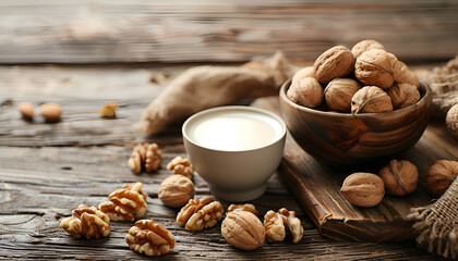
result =
[[[281,116],[278,97],[257,99],[253,105]],[[406,197],[385,196],[381,204],[367,209],[352,206],[340,195],[339,189],[346,176],[354,172],[378,173],[390,159],[405,159],[417,165],[420,184],[413,194]],[[335,167],[315,160],[288,134],[278,174],[322,235],[357,241],[394,241],[414,236],[406,216],[411,207],[425,206],[432,200],[423,178],[429,167],[439,159],[458,159],[458,144],[441,122],[431,122],[413,148],[377,163],[349,167]]]

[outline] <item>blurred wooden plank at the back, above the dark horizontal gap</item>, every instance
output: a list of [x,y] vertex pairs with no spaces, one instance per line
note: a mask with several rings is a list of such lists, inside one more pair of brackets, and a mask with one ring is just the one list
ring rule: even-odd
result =
[[445,61],[457,13],[446,0],[5,0],[0,63],[227,62],[277,49],[314,60],[365,38],[403,61]]

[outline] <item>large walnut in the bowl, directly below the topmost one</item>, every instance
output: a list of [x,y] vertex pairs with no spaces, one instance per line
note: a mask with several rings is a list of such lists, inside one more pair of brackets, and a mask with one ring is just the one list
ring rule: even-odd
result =
[[382,49],[363,52],[354,64],[354,76],[363,85],[374,85],[382,89],[391,87],[394,71],[398,59]]

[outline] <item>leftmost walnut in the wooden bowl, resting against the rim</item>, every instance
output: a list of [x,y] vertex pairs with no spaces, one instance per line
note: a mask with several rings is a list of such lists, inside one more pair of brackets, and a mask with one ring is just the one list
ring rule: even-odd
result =
[[323,101],[323,88],[315,78],[305,77],[293,82],[287,96],[297,104],[315,108]]

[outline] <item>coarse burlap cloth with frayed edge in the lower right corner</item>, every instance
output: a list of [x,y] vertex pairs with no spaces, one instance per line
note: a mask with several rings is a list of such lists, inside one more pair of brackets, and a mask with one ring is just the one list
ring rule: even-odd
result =
[[427,251],[458,258],[458,178],[436,202],[412,209],[408,217],[415,222],[417,241]]

